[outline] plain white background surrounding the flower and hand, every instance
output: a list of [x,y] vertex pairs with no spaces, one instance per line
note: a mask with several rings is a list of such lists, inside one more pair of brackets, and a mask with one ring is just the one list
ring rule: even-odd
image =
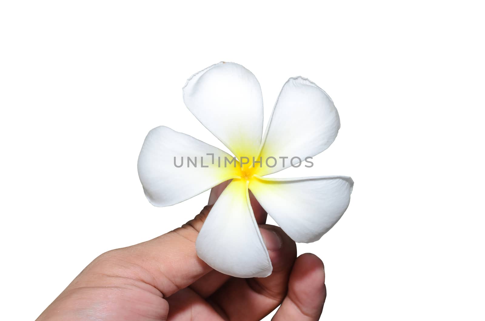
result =
[[479,1],[2,1],[1,319],[35,319],[97,255],[206,204],[208,192],[151,206],[136,161],[159,125],[224,148],[181,90],[224,60],[258,78],[265,122],[296,75],[339,110],[315,166],[275,175],[355,180],[339,223],[298,245],[325,263],[322,320],[484,320],[483,13]]

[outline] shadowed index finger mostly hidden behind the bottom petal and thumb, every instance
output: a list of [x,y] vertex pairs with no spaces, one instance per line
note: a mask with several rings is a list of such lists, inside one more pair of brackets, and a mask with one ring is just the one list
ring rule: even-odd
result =
[[[212,190],[210,191],[209,204],[212,201],[215,203],[215,201],[217,200],[219,195],[224,191],[226,186],[227,186],[226,182],[223,182],[217,185],[216,187],[212,188]],[[211,200],[211,197],[215,199]],[[251,191],[249,191],[249,200],[251,201],[251,206],[253,208],[256,222],[258,224],[266,223],[267,213],[259,204],[259,202],[256,200],[256,197],[254,197]],[[224,283],[226,283],[227,280],[229,280],[230,278],[231,276],[229,275],[213,270],[207,273],[206,275],[204,275],[203,277],[201,277],[200,279],[198,279],[197,281],[195,281],[190,286],[190,288],[193,289],[201,297],[207,298],[212,293],[214,293],[217,289],[219,289]]]

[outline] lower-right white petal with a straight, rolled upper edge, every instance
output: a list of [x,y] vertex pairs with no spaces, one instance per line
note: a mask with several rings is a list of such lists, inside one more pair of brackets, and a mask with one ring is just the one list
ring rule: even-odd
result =
[[349,206],[354,181],[346,176],[263,178],[249,184],[259,204],[296,242],[314,242]]

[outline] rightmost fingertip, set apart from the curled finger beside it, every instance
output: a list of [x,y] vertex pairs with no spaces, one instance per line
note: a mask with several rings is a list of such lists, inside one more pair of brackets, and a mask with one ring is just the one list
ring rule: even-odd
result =
[[288,294],[273,320],[319,320],[326,295],[322,260],[310,253],[302,254],[291,270]]

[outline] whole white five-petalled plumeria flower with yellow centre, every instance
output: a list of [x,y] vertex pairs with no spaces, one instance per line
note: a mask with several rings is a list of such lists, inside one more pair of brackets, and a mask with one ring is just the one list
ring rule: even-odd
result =
[[[177,204],[232,179],[195,243],[197,255],[213,269],[236,277],[265,277],[272,272],[249,190],[296,242],[317,241],[337,223],[349,205],[352,178],[264,177],[297,165],[298,159],[301,164],[335,140],[339,114],[315,83],[294,77],[283,85],[263,138],[261,88],[240,64],[221,62],[194,74],[183,87],[183,100],[234,156],[161,126],[146,136],[138,174],[148,201],[158,207]],[[237,160],[225,166],[224,160],[234,157]],[[251,161],[246,164],[243,157]],[[253,157],[262,161],[253,163]],[[175,160],[187,158],[199,159],[198,166],[191,162],[174,166]]]

